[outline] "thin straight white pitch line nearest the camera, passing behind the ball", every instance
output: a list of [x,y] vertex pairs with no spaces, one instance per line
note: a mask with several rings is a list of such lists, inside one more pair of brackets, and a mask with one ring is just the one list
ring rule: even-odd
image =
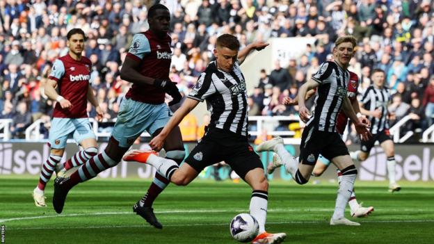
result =
[[[434,222],[434,220],[367,220],[364,223],[414,223],[414,222]],[[267,222],[267,225],[295,225],[295,224],[328,224],[328,221],[285,221],[285,222]],[[165,227],[195,227],[195,226],[225,226],[225,223],[215,224],[185,224],[185,225],[164,225]],[[83,226],[83,227],[28,227],[28,228],[8,228],[8,230],[35,230],[35,229],[114,229],[114,228],[153,228],[151,225],[107,225],[107,226]]]

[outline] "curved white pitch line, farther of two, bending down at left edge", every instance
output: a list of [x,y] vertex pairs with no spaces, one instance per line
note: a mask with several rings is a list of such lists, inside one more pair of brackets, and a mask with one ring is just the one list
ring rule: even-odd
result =
[[[155,211],[155,213],[241,213],[245,212],[246,209],[222,209],[222,210],[183,210],[177,209],[173,211]],[[284,212],[332,212],[334,209],[268,209],[268,213],[284,213]],[[401,211],[401,212],[412,212],[418,213],[421,210],[415,209],[376,209],[376,212],[393,212],[393,211]],[[424,211],[426,213],[426,211]],[[29,216],[29,217],[21,217],[21,218],[6,218],[0,219],[1,222],[11,222],[11,221],[19,221],[19,220],[35,220],[42,218],[63,218],[63,217],[79,217],[79,216],[90,216],[90,215],[124,215],[124,214],[133,214],[132,212],[101,212],[101,213],[69,213],[69,214],[56,214],[56,215],[41,215],[41,216]]]

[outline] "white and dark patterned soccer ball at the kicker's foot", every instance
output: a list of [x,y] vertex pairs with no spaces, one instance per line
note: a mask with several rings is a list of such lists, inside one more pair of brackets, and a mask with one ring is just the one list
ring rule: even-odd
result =
[[253,241],[259,232],[259,223],[249,213],[236,215],[230,224],[232,237],[241,243]]

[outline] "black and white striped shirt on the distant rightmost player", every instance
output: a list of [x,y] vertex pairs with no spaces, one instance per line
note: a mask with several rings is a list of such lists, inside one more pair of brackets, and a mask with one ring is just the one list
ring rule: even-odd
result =
[[371,133],[376,134],[384,129],[389,129],[389,120],[387,120],[387,104],[389,104],[391,97],[389,88],[376,88],[371,85],[364,92],[362,97],[362,105],[364,109],[369,111],[375,111],[376,109],[381,111],[381,117],[378,119],[373,116],[369,116],[371,120]]

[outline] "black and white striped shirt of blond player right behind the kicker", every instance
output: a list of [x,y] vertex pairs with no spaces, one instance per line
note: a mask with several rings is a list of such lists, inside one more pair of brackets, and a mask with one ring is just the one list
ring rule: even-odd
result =
[[307,126],[319,131],[336,132],[337,115],[347,95],[350,73],[335,62],[325,62],[312,79],[320,86],[315,97],[314,115]]

